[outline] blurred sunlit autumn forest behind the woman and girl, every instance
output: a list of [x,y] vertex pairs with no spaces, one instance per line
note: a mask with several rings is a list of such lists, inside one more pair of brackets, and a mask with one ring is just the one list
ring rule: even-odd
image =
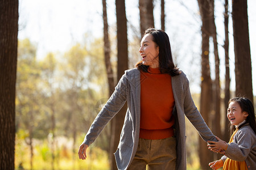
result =
[[[1,0],[0,169],[116,169],[125,107],[86,160],[77,150],[119,78],[141,59],[149,27],[168,33],[196,106],[228,141],[228,100],[246,96],[256,103],[255,4]],[[186,126],[188,169],[210,169],[221,155],[207,149],[189,121]]]

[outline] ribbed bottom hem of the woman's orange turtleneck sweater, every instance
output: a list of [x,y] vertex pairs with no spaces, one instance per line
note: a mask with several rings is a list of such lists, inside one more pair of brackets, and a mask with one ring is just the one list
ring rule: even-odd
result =
[[149,130],[149,129],[139,129],[139,138],[143,139],[166,139],[174,136],[174,128],[168,129],[156,129],[156,130]]

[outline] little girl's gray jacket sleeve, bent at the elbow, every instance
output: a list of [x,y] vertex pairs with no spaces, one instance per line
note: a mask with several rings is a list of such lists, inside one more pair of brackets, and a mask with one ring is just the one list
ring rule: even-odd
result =
[[254,143],[252,130],[248,128],[242,128],[237,131],[234,136],[235,142],[229,143],[227,150],[225,151],[228,158],[236,161],[244,161],[251,151],[251,146]]

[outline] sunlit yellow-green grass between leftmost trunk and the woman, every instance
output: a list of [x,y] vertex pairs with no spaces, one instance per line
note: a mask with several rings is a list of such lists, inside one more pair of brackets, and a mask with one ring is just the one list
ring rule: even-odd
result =
[[[106,151],[98,147],[92,147],[88,148],[87,153],[87,159],[80,160],[77,153],[72,152],[70,147],[60,146],[55,150],[54,169],[109,169],[108,153]],[[19,169],[20,163],[22,163],[24,169],[31,169],[30,148],[24,141],[16,139],[15,169]],[[52,169],[52,155],[47,141],[35,142],[32,169]]]

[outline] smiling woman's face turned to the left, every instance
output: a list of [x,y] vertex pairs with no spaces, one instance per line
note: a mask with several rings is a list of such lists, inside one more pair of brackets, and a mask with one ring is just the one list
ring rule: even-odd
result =
[[159,46],[156,45],[152,38],[151,34],[146,34],[142,38],[139,54],[141,54],[143,65],[156,68],[159,67]]

